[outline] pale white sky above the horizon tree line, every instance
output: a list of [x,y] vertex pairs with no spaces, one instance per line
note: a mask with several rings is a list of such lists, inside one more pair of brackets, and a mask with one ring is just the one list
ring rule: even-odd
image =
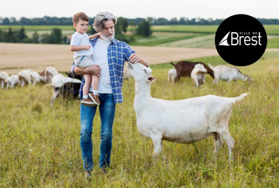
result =
[[227,18],[246,14],[257,18],[279,19],[279,0],[11,0],[1,3],[0,17],[72,17],[84,12],[95,17],[100,11],[110,11],[117,17],[201,17]]

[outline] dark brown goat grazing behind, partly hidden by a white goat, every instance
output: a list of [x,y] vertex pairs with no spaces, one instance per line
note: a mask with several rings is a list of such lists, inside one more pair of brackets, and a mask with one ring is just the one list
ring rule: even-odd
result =
[[175,79],[175,82],[179,81],[180,77],[190,77],[192,70],[195,68],[195,65],[199,63],[204,65],[204,68],[207,70],[207,74],[211,75],[211,77],[214,79],[213,70],[211,70],[206,64],[202,62],[179,61],[179,63],[176,63],[176,65],[174,65],[174,63],[171,63],[176,69],[177,77]]

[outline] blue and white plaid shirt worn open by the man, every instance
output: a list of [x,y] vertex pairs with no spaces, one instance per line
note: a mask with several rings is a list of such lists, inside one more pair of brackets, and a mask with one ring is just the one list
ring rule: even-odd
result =
[[[92,47],[95,47],[98,38],[93,38],[90,40]],[[115,38],[107,47],[107,58],[110,69],[110,81],[112,83],[112,94],[114,97],[114,103],[123,102],[122,94],[122,84],[123,84],[123,68],[125,61],[128,61],[131,54],[135,54],[135,51],[130,48],[126,42],[121,42]],[[73,70],[75,68],[75,63],[73,63],[71,72],[74,74]],[[80,86],[80,95],[82,98],[82,88],[84,86],[84,78],[82,79],[82,85]]]

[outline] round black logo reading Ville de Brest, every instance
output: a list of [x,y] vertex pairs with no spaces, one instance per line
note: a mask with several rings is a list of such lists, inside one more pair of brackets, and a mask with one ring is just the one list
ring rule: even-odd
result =
[[227,63],[246,66],[255,63],[266,50],[264,26],[250,15],[233,15],[225,19],[216,31],[218,54]]

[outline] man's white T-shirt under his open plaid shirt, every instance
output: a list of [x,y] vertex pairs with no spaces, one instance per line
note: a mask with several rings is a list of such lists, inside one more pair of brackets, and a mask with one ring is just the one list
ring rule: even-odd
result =
[[110,42],[111,41],[104,41],[98,38],[93,48],[93,62],[101,68],[98,93],[112,93],[109,60],[107,58],[107,47],[109,47]]

